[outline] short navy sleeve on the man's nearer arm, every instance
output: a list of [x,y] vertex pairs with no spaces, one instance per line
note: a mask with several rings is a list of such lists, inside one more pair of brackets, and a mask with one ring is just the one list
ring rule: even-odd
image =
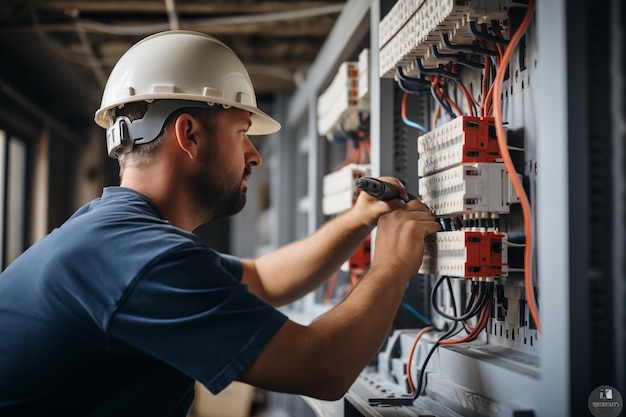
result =
[[240,283],[241,268],[198,246],[161,257],[128,289],[109,337],[221,391],[287,320]]

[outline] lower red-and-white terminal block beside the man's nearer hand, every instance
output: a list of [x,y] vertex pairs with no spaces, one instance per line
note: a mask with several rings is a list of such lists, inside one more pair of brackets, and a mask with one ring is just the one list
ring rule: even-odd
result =
[[426,239],[419,273],[491,279],[508,273],[506,234],[494,231],[438,232]]

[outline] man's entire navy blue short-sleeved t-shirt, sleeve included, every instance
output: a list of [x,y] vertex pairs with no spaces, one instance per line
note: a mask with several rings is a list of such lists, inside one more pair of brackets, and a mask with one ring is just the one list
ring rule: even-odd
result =
[[0,415],[185,416],[194,380],[219,392],[286,320],[242,271],[106,188],[0,275]]

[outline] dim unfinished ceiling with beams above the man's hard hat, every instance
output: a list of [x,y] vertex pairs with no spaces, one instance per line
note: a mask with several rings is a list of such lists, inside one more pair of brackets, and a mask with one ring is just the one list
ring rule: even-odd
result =
[[0,93],[61,123],[93,124],[106,78],[132,44],[171,28],[211,34],[246,64],[261,100],[291,91],[345,1],[0,0]]

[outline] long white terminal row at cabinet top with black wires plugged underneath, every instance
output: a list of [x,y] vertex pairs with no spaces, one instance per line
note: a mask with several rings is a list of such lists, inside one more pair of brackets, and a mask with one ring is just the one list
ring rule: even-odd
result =
[[455,43],[471,44],[468,22],[504,21],[510,0],[399,0],[380,22],[380,74],[393,78],[396,68],[415,75],[415,59],[425,66],[442,63],[430,53],[436,46],[449,53],[441,42],[446,34]]

